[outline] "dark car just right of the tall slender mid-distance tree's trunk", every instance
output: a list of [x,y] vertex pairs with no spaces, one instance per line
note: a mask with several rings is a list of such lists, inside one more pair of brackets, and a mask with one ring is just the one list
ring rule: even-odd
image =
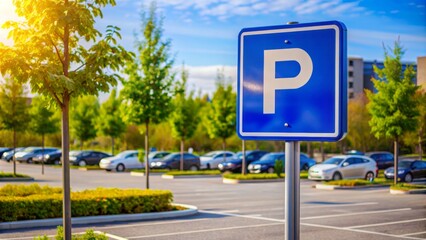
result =
[[[170,153],[169,155],[165,156],[164,158],[152,161],[151,162],[151,168],[152,169],[180,169],[180,157],[181,154],[179,152],[177,153]],[[183,169],[184,170],[191,170],[191,171],[197,171],[200,169],[200,157],[192,154],[192,153],[184,153],[183,155]]]

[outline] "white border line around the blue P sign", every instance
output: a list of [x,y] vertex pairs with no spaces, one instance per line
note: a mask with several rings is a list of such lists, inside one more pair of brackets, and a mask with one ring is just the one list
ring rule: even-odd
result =
[[[336,46],[335,46],[335,109],[334,109],[334,129],[333,133],[301,133],[301,132],[243,132],[243,86],[244,86],[244,75],[243,75],[243,49],[244,49],[244,37],[249,35],[260,35],[260,34],[271,34],[271,33],[285,33],[285,32],[306,32],[306,31],[316,31],[324,29],[334,29],[336,31]],[[316,138],[333,138],[339,135],[339,110],[340,110],[340,101],[339,101],[339,71],[340,71],[340,61],[339,61],[339,52],[340,52],[340,29],[336,25],[324,25],[324,26],[311,26],[311,27],[300,27],[300,28],[288,28],[288,29],[271,29],[271,30],[259,30],[252,32],[244,32],[240,37],[240,95],[238,99],[239,104],[239,133],[243,137],[316,137]]]

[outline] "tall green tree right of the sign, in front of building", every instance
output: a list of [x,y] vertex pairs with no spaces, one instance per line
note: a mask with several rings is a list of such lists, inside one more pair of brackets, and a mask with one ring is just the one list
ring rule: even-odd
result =
[[419,109],[415,93],[418,87],[412,82],[415,71],[407,66],[402,72],[401,58],[404,51],[399,43],[390,54],[385,49],[384,68],[374,66],[378,78],[372,78],[377,93],[367,92],[370,102],[367,105],[371,114],[371,132],[377,138],[390,137],[394,140],[394,183],[398,182],[398,141],[405,132],[417,128]]

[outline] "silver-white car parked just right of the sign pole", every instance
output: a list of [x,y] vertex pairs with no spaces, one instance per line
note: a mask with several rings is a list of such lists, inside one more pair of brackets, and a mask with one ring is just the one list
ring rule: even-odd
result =
[[312,180],[347,178],[372,180],[377,174],[377,163],[373,159],[361,155],[341,155],[312,166],[308,171],[308,178]]

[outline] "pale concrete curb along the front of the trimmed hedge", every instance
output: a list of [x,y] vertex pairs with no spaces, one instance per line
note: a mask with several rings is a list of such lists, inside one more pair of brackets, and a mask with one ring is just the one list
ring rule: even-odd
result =
[[[198,208],[186,204],[173,204],[182,206],[186,210],[156,212],[156,213],[137,213],[137,214],[119,214],[107,216],[90,216],[90,217],[73,217],[72,224],[91,224],[91,223],[111,223],[111,222],[126,222],[126,221],[146,221],[155,219],[175,218],[191,216],[198,213]],[[62,225],[62,218],[41,219],[41,220],[25,220],[16,222],[0,223],[0,230],[22,229],[33,227],[55,227]]]

